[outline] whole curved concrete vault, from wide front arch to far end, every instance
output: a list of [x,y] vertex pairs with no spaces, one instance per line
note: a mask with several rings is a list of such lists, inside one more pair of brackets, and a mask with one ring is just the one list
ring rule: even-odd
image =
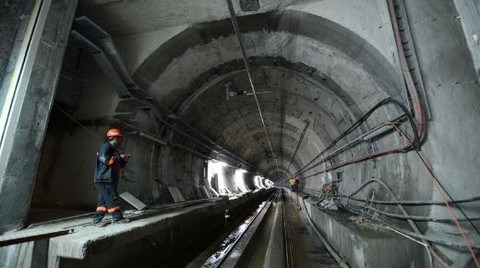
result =
[[[376,102],[398,97],[401,87],[393,66],[366,40],[331,21],[283,11],[245,16],[239,22],[257,91],[270,92],[259,100],[284,169],[305,122],[313,129],[293,160],[293,171]],[[226,82],[235,91],[251,91],[230,20],[186,29],[152,53],[134,79],[260,171],[278,172],[272,171],[254,98],[226,100]]]

